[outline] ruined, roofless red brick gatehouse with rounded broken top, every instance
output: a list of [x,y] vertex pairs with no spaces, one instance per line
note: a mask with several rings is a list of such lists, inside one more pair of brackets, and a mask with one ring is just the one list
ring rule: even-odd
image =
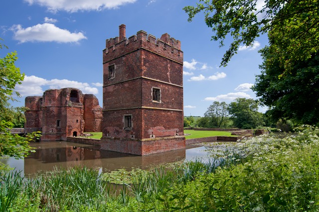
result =
[[83,134],[84,129],[101,132],[102,108],[97,98],[76,88],[50,89],[42,97],[26,97],[25,107],[29,108],[25,128],[41,128],[42,141],[66,141]]

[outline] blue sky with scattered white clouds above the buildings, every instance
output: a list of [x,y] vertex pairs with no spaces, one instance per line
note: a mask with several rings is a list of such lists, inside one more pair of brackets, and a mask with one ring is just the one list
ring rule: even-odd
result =
[[[219,67],[225,47],[211,41],[212,31],[203,14],[187,21],[182,10],[196,0],[5,0],[0,7],[0,38],[17,51],[16,66],[25,73],[16,86],[22,98],[41,96],[50,88],[75,87],[95,94],[102,105],[102,50],[105,40],[144,30],[160,38],[164,33],[181,41],[184,52],[184,115],[203,116],[213,101],[230,103],[237,97],[254,98],[250,86],[262,59],[258,50],[266,36],[253,46],[241,46],[226,67]],[[260,109],[263,111],[263,109]]]

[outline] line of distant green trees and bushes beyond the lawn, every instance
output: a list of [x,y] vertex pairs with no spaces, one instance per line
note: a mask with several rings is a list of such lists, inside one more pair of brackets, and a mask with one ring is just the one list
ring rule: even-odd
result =
[[240,128],[256,129],[277,127],[282,131],[291,131],[294,124],[291,120],[273,121],[268,113],[258,111],[258,101],[254,99],[237,98],[227,104],[214,101],[203,117],[184,117],[184,127],[198,128]]

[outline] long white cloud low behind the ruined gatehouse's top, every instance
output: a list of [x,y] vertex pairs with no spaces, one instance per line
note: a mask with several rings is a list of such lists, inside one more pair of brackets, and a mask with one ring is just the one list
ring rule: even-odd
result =
[[[97,83],[96,83],[97,84]],[[21,96],[38,96],[42,95],[44,90],[48,87],[50,89],[60,88],[78,88],[83,93],[97,94],[99,91],[96,87],[91,87],[89,83],[77,82],[67,79],[43,79],[37,76],[25,76],[20,85],[15,86],[15,91],[19,92]]]

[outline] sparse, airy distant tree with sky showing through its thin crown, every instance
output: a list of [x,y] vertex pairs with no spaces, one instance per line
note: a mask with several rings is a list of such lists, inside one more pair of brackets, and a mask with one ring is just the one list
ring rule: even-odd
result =
[[220,128],[224,124],[228,115],[227,107],[226,102],[214,101],[213,104],[207,108],[204,116],[209,117],[210,127]]

